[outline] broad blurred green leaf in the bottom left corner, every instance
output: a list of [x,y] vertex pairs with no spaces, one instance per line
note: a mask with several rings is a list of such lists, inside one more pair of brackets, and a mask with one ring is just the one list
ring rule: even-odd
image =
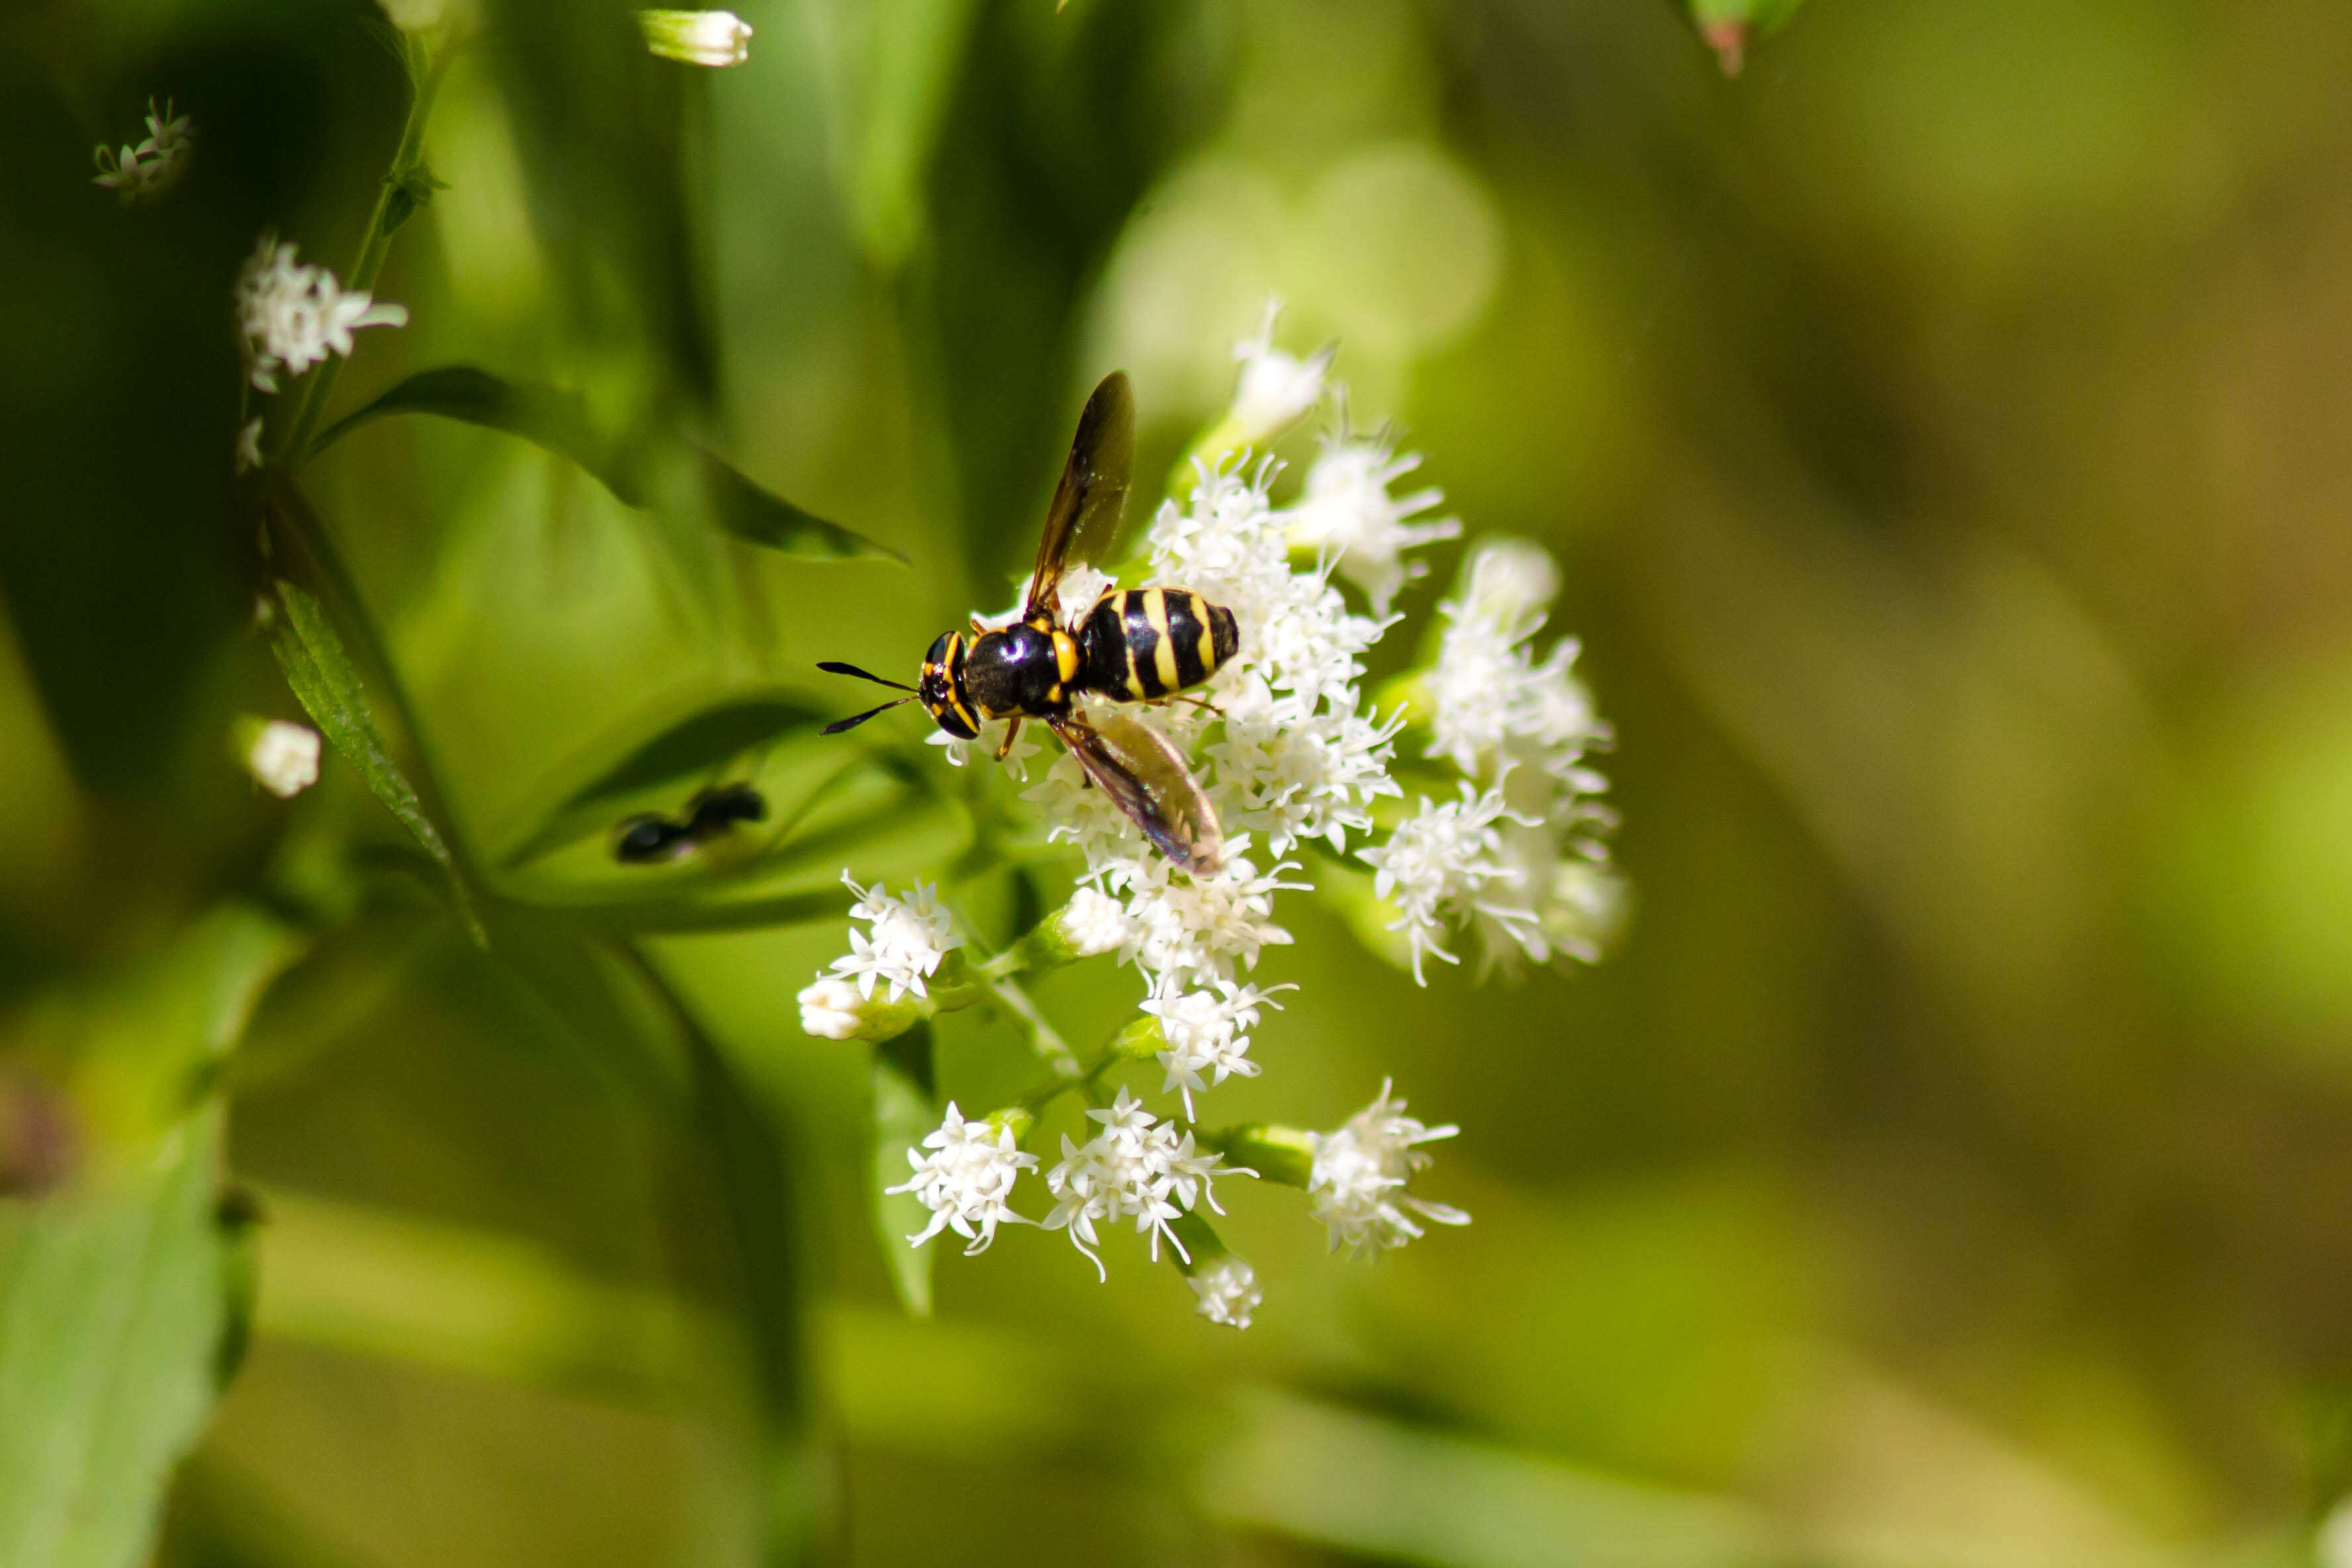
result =
[[165,1481],[235,1352],[235,1215],[219,1204],[223,1112],[207,1086],[294,945],[268,917],[221,910],[42,1013],[92,1147],[66,1192],[0,1201],[9,1568],[146,1561]]

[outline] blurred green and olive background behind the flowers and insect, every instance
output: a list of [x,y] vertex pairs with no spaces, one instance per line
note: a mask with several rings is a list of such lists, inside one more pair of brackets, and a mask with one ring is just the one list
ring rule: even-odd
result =
[[[1472,536],[1564,559],[1628,938],[1414,990],[1287,903],[1303,990],[1221,1110],[1334,1126],[1392,1072],[1477,1222],[1348,1265],[1235,1185],[1247,1335],[1040,1232],[901,1314],[866,1048],[793,1009],[837,917],[652,936],[659,987],[524,910],[485,957],[348,766],[285,806],[223,750],[296,717],[228,294],[270,223],[348,266],[407,101],[376,12],[12,7],[0,1561],[66,1561],[9,1509],[75,1465],[136,1554],[198,1429],[169,1563],[2312,1561],[2352,1488],[2352,9],[1813,0],[1738,78],[1665,0],[741,12],[701,73],[489,5],[376,289],[412,327],[339,407],[574,386],[913,567],[355,433],[306,489],[459,837],[647,715],[847,708],[816,658],[1004,604],[1094,376],[1164,473],[1279,294]],[[148,94],[198,162],[125,212],[89,146]],[[647,1063],[609,999],[663,987],[708,1034]],[[978,1025],[938,1063],[1021,1081]],[[172,1140],[223,1105],[219,1192]],[[134,1157],[153,1211],[35,1276],[71,1192],[31,1194]],[[209,1425],[141,1359],[176,1279],[245,1340]]]

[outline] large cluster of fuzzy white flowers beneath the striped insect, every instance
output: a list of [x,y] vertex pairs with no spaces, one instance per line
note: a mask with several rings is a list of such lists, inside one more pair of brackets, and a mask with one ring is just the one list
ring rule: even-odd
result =
[[[1225,435],[1263,440],[1322,397],[1329,355],[1277,353],[1270,322],[1240,357],[1242,388],[1218,428]],[[1468,1222],[1458,1208],[1409,1194],[1414,1173],[1430,1164],[1421,1145],[1456,1128],[1406,1117],[1388,1084],[1334,1133],[1261,1128],[1204,1150],[1190,1128],[1200,1095],[1261,1072],[1249,1056],[1251,1037],[1265,1009],[1279,1006],[1275,997],[1294,987],[1249,976],[1265,947],[1291,940],[1275,924],[1275,896],[1310,886],[1308,851],[1352,856],[1371,870],[1371,893],[1395,917],[1390,931],[1399,933],[1416,980],[1425,957],[1456,961],[1449,945],[1470,926],[1479,929],[1489,961],[1498,954],[1541,961],[1552,952],[1597,957],[1597,940],[1616,917],[1616,884],[1597,839],[1606,825],[1597,806],[1604,780],[1585,764],[1606,743],[1606,729],[1573,677],[1576,644],[1543,654],[1534,646],[1557,590],[1548,555],[1519,543],[1472,552],[1461,592],[1442,607],[1428,668],[1399,679],[1406,701],[1383,717],[1362,691],[1367,654],[1402,621],[1392,614],[1397,595],[1428,571],[1411,552],[1461,534],[1456,520],[1430,515],[1439,491],[1392,494],[1416,465],[1388,440],[1343,433],[1310,465],[1298,498],[1275,505],[1275,465],[1240,451],[1200,463],[1185,501],[1169,501],[1152,517],[1141,578],[1225,607],[1240,630],[1235,656],[1188,693],[1197,701],[1124,710],[1195,759],[1228,832],[1216,872],[1176,870],[1058,748],[1035,780],[1021,769],[1033,748],[1021,745],[1007,759],[1028,783],[1023,799],[1040,809],[1049,837],[1073,844],[1084,860],[1075,893],[1049,917],[1049,947],[1061,957],[1117,954],[1141,971],[1150,1044],[1115,1048],[1155,1051],[1164,1072],[1160,1093],[1183,1103],[1181,1121],[1162,1121],[1120,1088],[1110,1107],[1089,1110],[1098,1131],[1084,1143],[1063,1135],[1061,1161],[1042,1173],[1054,1199],[1044,1225],[1068,1229],[1098,1272],[1105,1225],[1134,1222],[1155,1258],[1167,1239],[1185,1262],[1200,1314],[1237,1328],[1263,1300],[1254,1269],[1221,1248],[1190,1255],[1178,1232],[1190,1241],[1214,1234],[1188,1215],[1195,1201],[1216,1211],[1209,1182],[1228,1171],[1225,1152],[1242,1157],[1240,1150],[1261,1147],[1261,1135],[1268,1152],[1294,1150],[1279,1161],[1284,1180],[1305,1180],[1334,1246],[1376,1253],[1423,1234],[1423,1222]],[[1108,581],[1073,571],[1063,583],[1065,607],[1084,614]],[[1409,715],[1428,729],[1418,750],[1430,762],[1397,757]],[[964,764],[1000,738],[995,731],[950,743],[948,759]],[[1406,790],[1406,778],[1432,771],[1451,780]],[[858,917],[877,919],[877,898],[858,893]],[[929,891],[920,893],[931,910]],[[946,938],[943,917],[927,929]],[[856,952],[835,961],[818,987],[835,985],[847,997],[856,976],[870,994],[887,976],[884,961],[870,957],[882,945],[880,922],[870,943],[856,936],[851,943]],[[811,1009],[811,992],[802,994],[809,1030],[849,1037],[849,1027],[823,1027],[830,1016]],[[842,1001],[842,1011],[854,1011],[854,1001]],[[1136,1034],[1143,1032],[1131,1027],[1122,1039]],[[997,1222],[1018,1218],[1007,1194],[1028,1168],[1018,1164],[1025,1157],[1016,1159],[1014,1140],[967,1128],[950,1107],[948,1124],[927,1140],[934,1152],[910,1152],[917,1180],[894,1192],[915,1192],[936,1215],[917,1239],[953,1227],[985,1244]],[[1251,1164],[1275,1168],[1268,1159]]]

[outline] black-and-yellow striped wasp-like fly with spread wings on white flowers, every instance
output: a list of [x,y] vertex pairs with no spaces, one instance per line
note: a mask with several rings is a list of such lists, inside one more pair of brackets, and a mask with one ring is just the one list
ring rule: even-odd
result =
[[1117,534],[1134,456],[1136,397],[1127,371],[1110,371],[1077,416],[1021,618],[1004,630],[985,630],[974,618],[969,635],[941,632],[922,656],[913,686],[856,665],[818,665],[910,693],[828,724],[826,733],[863,724],[898,703],[922,703],[943,731],[962,741],[978,738],[985,719],[1009,719],[997,748],[1002,759],[1021,719],[1042,719],[1169,860],[1188,872],[1214,872],[1223,863],[1225,835],[1183,752],[1124,715],[1084,719],[1075,710],[1084,693],[1112,703],[1178,696],[1216,675],[1240,646],[1232,611],[1183,588],[1112,588],[1084,614],[1063,616],[1061,578],[1073,562],[1094,562]]

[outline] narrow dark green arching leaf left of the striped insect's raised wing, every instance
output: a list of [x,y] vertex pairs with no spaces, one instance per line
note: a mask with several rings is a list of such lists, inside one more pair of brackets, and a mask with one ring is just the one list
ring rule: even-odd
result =
[[529,381],[506,381],[473,364],[416,371],[374,402],[346,414],[310,451],[322,451],[358,425],[386,414],[437,414],[487,430],[506,430],[567,456],[619,501],[706,522],[743,543],[800,559],[898,559],[887,545],[800,510],[691,440],[663,430],[628,435],[600,430],[579,393]]

